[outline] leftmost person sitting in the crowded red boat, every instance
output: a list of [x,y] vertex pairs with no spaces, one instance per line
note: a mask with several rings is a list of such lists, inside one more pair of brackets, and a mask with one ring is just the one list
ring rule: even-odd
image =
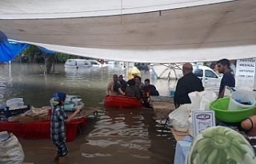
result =
[[118,95],[125,95],[124,92],[122,92],[121,84],[118,81],[118,75],[113,75],[113,80],[108,84],[106,88],[106,95],[110,96],[118,96]]

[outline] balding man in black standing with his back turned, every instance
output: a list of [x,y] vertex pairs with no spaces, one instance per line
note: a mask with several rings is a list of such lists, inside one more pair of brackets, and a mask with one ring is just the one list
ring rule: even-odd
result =
[[190,97],[188,96],[190,92],[202,92],[204,90],[202,86],[202,80],[195,76],[192,71],[192,64],[183,64],[183,76],[178,80],[174,94],[174,105],[176,108],[181,104],[191,103]]

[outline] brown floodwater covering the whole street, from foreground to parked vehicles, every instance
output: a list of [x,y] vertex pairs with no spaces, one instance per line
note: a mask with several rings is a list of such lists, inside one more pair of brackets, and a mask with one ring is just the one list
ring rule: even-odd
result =
[[[162,131],[164,120],[156,122],[150,109],[104,108],[106,86],[120,68],[65,70],[55,65],[55,73],[45,76],[44,65],[0,65],[0,94],[5,100],[23,97],[34,107],[49,105],[54,92],[82,96],[86,107],[100,107],[98,117],[88,118],[77,139],[68,143],[67,163],[171,164],[175,142],[170,131]],[[176,81],[156,80],[142,72],[142,80],[150,78],[160,95],[167,96]],[[34,164],[54,163],[54,145],[50,139],[19,139],[26,158]]]

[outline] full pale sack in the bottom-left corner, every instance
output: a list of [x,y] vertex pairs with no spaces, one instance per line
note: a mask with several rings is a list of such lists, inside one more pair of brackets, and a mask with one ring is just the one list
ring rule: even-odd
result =
[[[0,132],[0,163],[1,164],[21,164],[25,155],[22,145],[15,135],[9,135],[7,131]],[[7,137],[6,137],[7,136]]]

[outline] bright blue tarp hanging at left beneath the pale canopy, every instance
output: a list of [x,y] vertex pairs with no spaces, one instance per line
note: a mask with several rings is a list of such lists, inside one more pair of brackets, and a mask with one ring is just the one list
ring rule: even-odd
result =
[[[8,41],[6,35],[0,31],[0,62],[11,61],[14,57],[21,53],[23,49],[26,49],[27,46],[29,45],[26,43]],[[55,53],[54,51],[42,47],[38,48],[46,54]]]

